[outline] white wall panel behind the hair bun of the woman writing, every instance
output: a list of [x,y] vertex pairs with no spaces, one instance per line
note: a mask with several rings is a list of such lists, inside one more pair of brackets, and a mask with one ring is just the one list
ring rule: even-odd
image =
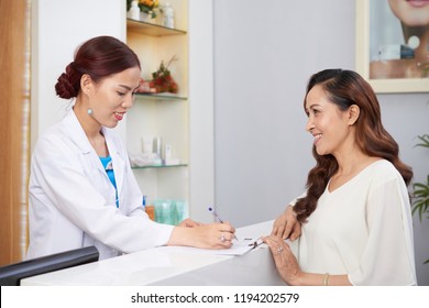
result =
[[69,105],[56,96],[55,84],[73,61],[76,47],[98,35],[124,40],[125,1],[105,2],[100,7],[99,1],[87,0],[32,1],[31,148]]

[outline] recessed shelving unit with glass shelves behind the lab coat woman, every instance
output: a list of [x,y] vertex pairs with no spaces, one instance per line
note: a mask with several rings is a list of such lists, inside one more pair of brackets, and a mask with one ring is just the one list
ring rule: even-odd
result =
[[[175,10],[178,29],[152,21],[127,19],[127,43],[139,58],[144,59],[143,76],[152,76],[162,61],[175,55],[183,59],[173,68],[178,94],[135,92],[134,105],[127,119],[127,144],[130,153],[141,153],[144,136],[161,138],[162,148],[172,146],[175,165],[156,165],[158,161],[134,161],[131,167],[141,190],[154,199],[189,201],[189,103],[188,103],[188,0],[168,0]],[[182,29],[182,30],[180,30]],[[148,80],[150,77],[144,77]],[[132,155],[130,155],[132,156]],[[177,160],[177,161],[176,161]]]

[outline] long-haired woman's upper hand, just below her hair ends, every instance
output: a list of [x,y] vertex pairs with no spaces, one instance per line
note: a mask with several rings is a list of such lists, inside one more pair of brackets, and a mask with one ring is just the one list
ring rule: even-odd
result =
[[276,218],[273,224],[272,235],[280,237],[284,240],[295,241],[301,234],[301,224],[296,219],[293,206],[287,206],[285,211]]

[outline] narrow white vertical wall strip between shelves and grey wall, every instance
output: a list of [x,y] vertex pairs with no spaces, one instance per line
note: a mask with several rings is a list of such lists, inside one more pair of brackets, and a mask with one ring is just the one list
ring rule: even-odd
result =
[[215,201],[213,0],[189,0],[190,216],[210,221]]

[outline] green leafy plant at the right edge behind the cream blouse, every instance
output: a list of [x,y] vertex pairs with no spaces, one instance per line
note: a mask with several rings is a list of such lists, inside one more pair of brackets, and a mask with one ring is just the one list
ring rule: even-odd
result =
[[[420,142],[416,146],[424,146],[429,148],[429,134],[419,135]],[[413,184],[413,215],[418,212],[420,222],[424,216],[429,219],[429,175],[426,178],[426,183]],[[429,263],[429,260],[424,264]]]

